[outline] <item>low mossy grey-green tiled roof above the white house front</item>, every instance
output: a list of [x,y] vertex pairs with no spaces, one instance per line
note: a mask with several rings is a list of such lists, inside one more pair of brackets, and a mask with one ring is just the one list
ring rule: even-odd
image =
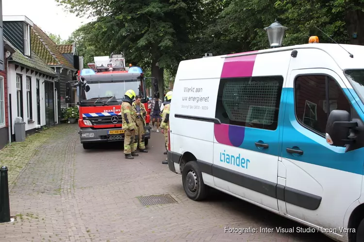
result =
[[32,51],[32,59],[24,56],[20,53],[20,51],[14,47],[7,39],[4,38],[4,42],[9,45],[15,52],[11,55],[11,59],[9,61],[15,61],[19,64],[23,64],[27,67],[33,68],[34,70],[38,70],[41,73],[49,74],[51,76],[57,76],[57,73],[53,71],[39,56],[37,56],[34,51]]

